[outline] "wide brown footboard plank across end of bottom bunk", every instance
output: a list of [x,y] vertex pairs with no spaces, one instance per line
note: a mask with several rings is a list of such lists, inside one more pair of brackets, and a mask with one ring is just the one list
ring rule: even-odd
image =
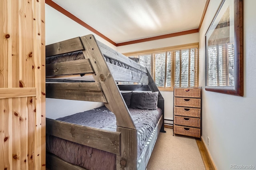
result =
[[120,132],[46,118],[46,133],[72,142],[120,154]]

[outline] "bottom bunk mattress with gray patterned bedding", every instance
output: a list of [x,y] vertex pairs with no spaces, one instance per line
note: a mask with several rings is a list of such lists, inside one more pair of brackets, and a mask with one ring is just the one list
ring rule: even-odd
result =
[[[162,115],[162,110],[160,108],[156,110],[129,108],[129,111],[138,133],[137,155],[139,157]],[[114,113],[109,111],[106,107],[76,113],[57,120],[87,127],[116,131],[116,117]],[[116,169],[116,154],[77,144],[55,136],[46,136],[46,150],[66,162],[88,170]]]

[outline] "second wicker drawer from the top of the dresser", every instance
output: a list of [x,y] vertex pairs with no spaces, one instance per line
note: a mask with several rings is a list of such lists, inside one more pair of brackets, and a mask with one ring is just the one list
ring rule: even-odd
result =
[[175,106],[200,108],[201,107],[201,99],[174,97],[174,105]]

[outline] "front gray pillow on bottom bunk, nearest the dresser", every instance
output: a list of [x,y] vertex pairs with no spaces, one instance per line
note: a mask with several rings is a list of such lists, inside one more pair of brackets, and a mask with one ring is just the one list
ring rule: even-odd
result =
[[132,93],[131,108],[134,109],[157,109],[158,92]]

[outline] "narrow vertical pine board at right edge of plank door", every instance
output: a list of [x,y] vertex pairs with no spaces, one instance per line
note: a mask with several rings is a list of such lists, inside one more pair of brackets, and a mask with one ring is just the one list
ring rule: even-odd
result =
[[[36,169],[38,170],[45,170],[46,168],[46,144],[45,144],[45,138],[46,138],[46,106],[45,106],[45,71],[46,71],[46,64],[45,64],[45,2],[44,1],[36,1],[36,18],[38,18],[36,21],[38,21],[38,32],[40,32],[40,35],[36,35],[36,39],[38,41],[34,41],[36,44],[36,65],[37,65],[37,71],[36,71],[36,98],[34,97],[34,100],[36,101],[36,131],[35,131],[35,139],[36,139],[36,152],[37,155],[39,154],[38,161],[36,161],[36,164],[38,166]],[[34,111],[34,110],[33,110]]]

